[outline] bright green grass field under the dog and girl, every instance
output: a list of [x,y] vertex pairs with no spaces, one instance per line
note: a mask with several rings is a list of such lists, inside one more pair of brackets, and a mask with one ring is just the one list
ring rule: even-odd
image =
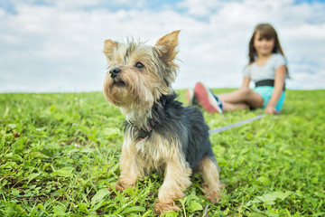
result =
[[[281,115],[210,136],[222,200],[210,204],[193,175],[182,211],[167,216],[202,216],[208,204],[208,216],[324,216],[324,96],[287,90]],[[212,129],[262,112],[204,117]],[[99,92],[0,94],[0,216],[156,216],[162,176],[107,191],[119,175],[123,121]]]

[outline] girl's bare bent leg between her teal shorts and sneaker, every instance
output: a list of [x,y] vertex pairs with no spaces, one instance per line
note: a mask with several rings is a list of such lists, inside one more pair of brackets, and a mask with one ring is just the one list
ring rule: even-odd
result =
[[226,108],[228,106],[228,109],[225,108],[226,110],[243,109],[244,104],[253,109],[258,109],[263,107],[264,102],[261,95],[248,88],[241,88],[229,93],[219,94],[218,99],[225,102]]

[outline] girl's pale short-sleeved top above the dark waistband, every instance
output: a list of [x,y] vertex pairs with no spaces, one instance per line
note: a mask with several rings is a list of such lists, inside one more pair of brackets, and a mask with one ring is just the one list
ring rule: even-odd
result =
[[282,65],[286,66],[283,55],[280,53],[273,53],[263,66],[258,66],[255,62],[251,65],[247,65],[244,69],[244,76],[250,78],[254,82],[260,80],[274,80],[275,70]]

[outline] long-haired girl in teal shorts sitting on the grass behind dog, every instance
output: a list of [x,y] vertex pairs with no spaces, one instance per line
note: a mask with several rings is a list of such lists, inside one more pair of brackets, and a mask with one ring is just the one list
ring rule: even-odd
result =
[[[249,62],[244,69],[242,87],[216,96],[198,82],[194,91],[186,92],[188,105],[200,103],[209,113],[247,108],[262,108],[268,114],[280,113],[288,71],[274,27],[270,24],[258,24],[248,45]],[[255,82],[254,90],[248,89],[250,80]]]

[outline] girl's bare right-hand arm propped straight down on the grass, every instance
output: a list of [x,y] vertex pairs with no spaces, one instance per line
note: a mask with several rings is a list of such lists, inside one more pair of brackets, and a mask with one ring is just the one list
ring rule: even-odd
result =
[[275,70],[275,79],[274,79],[274,92],[272,93],[271,99],[265,107],[265,112],[269,114],[275,114],[275,106],[278,100],[281,97],[283,92],[284,80],[286,74],[285,65],[280,66]]

